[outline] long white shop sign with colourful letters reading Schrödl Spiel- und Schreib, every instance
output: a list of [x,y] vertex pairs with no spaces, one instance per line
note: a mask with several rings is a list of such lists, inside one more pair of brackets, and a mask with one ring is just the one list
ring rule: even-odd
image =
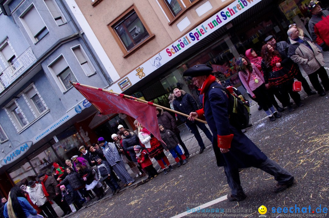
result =
[[240,14],[244,13],[261,1],[262,0],[234,1],[192,29],[190,32],[184,34],[177,41],[164,48],[160,51],[160,53],[157,53],[140,66],[137,66],[124,79],[119,80],[108,89],[112,89],[116,93],[126,91],[138,83],[141,79],[144,79],[146,76],[162,67],[165,63],[182,54],[192,45],[198,43],[200,40],[212,34],[225,24],[228,24],[231,20],[238,17]]

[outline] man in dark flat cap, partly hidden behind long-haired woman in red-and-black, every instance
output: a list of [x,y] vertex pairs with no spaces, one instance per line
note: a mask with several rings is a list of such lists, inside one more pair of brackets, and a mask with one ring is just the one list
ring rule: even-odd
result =
[[[278,51],[280,53],[284,53],[287,57],[290,58],[289,44],[286,41],[276,42],[276,40],[274,39],[274,37],[272,35],[267,36],[264,41],[265,41],[265,43],[270,44],[276,51]],[[302,86],[303,86],[306,94],[309,96],[315,95],[316,92],[312,91],[310,85],[308,84],[308,82],[306,81],[304,76],[302,75],[302,72],[300,72],[299,66],[297,64],[295,64],[295,67],[297,69],[297,74],[295,75],[295,78],[302,83]],[[284,105],[284,106],[288,106],[288,105]]]

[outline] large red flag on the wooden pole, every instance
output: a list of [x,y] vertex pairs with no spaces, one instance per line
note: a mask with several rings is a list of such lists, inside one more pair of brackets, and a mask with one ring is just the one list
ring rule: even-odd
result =
[[156,108],[154,106],[131,100],[125,97],[92,89],[78,84],[73,86],[93,104],[103,115],[123,113],[138,120],[148,131],[150,131],[161,142],[160,130]]

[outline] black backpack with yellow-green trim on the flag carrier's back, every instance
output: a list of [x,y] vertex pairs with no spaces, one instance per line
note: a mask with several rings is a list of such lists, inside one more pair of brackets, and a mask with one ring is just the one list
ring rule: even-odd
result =
[[228,114],[229,114],[229,121],[230,124],[237,129],[245,129],[249,124],[249,117],[250,117],[250,105],[249,103],[243,98],[242,95],[238,96],[232,90],[232,93],[229,89],[233,89],[233,86],[229,86],[224,88],[223,86],[215,85],[215,88],[220,88],[223,90],[226,95],[228,96]]

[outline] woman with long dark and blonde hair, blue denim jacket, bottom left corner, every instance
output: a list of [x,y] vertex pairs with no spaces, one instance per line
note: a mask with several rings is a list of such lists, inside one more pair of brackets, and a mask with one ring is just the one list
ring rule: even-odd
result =
[[17,186],[10,190],[3,214],[5,218],[43,218],[24,198],[22,189]]

